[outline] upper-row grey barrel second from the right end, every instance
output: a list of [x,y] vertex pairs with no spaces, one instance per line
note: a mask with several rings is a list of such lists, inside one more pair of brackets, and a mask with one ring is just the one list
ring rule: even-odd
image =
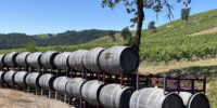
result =
[[102,51],[104,51],[103,48],[94,48],[84,54],[82,64],[86,69],[92,72],[98,72],[100,70],[99,56]]

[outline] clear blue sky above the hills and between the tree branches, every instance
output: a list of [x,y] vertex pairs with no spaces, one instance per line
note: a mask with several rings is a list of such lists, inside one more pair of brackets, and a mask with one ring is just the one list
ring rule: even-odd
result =
[[[174,19],[180,17],[182,4],[174,5]],[[191,14],[217,9],[217,0],[192,0]],[[145,10],[143,28],[150,21],[156,26],[168,23],[166,10],[156,21],[153,11]],[[113,29],[122,30],[130,26],[125,6],[114,10],[101,6],[101,0],[0,0],[0,33],[23,32],[58,33],[66,30]],[[136,28],[131,28],[135,30]]]

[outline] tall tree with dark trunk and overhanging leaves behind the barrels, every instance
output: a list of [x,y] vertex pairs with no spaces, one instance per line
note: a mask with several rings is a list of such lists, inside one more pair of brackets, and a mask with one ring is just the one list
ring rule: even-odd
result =
[[[177,3],[181,3],[182,1],[188,4],[191,3],[191,0],[176,0]],[[111,9],[114,9],[115,5],[120,2],[125,4],[127,13],[132,13],[135,15],[135,17],[132,17],[130,21],[132,22],[132,26],[137,24],[137,31],[132,45],[132,48],[137,52],[139,52],[141,30],[145,15],[144,9],[153,10],[154,12],[156,12],[156,17],[157,17],[157,14],[162,12],[164,8],[166,8],[168,12],[167,17],[170,19],[170,17],[173,16],[171,13],[173,6],[168,2],[168,0],[102,0],[102,6],[103,8],[108,6]]]

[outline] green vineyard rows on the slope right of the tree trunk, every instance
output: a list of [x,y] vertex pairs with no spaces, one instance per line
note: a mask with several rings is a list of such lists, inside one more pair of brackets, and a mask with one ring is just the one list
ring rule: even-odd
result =
[[189,25],[181,19],[157,27],[151,33],[143,30],[140,44],[140,58],[148,62],[169,62],[186,58],[215,57],[217,33],[191,36],[192,33],[217,27],[217,10],[189,17]]

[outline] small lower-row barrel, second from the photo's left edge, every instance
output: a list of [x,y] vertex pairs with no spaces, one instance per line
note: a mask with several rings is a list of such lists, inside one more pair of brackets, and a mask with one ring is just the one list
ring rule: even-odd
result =
[[4,75],[4,81],[9,84],[9,85],[14,85],[15,82],[14,82],[14,76],[15,76],[16,71],[14,70],[10,70],[10,71],[7,71],[5,75]]

